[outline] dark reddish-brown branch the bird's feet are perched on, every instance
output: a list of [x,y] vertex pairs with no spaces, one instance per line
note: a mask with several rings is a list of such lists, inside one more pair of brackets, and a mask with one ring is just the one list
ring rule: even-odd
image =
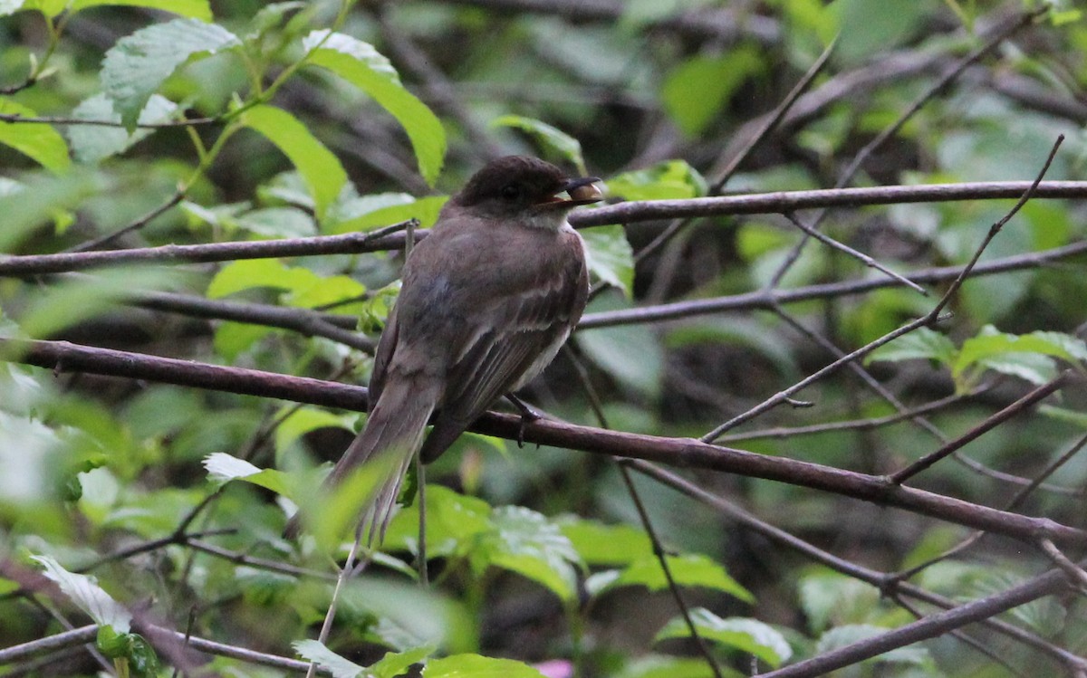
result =
[[[65,341],[0,339],[0,354],[12,362],[57,372],[90,372],[148,379],[357,412],[366,407],[366,389],[362,387],[80,347]],[[935,492],[894,486],[879,476],[755,454],[694,439],[608,431],[551,419],[524,423],[517,415],[498,413],[484,415],[470,430],[508,440],[516,440],[523,430],[528,442],[787,482],[990,530],[1030,543],[1045,537],[1058,544],[1087,544],[1087,531],[1048,518],[1023,516]]]

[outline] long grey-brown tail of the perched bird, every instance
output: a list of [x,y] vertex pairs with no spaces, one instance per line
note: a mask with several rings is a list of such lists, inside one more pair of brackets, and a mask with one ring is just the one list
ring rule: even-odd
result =
[[436,402],[437,389],[420,388],[411,379],[390,379],[371,410],[365,428],[328,476],[327,485],[338,485],[370,460],[379,460],[385,468],[385,478],[360,516],[368,522],[370,545],[374,545],[375,539],[378,544],[385,539],[400,486],[412,457],[423,444],[423,434]]

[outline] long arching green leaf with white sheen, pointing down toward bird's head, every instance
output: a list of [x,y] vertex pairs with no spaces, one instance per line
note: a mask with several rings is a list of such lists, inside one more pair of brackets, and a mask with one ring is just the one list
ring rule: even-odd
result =
[[408,133],[420,174],[434,186],[446,155],[446,133],[441,122],[400,84],[400,77],[374,47],[350,36],[314,30],[302,41],[307,61],[322,66],[370,95]]

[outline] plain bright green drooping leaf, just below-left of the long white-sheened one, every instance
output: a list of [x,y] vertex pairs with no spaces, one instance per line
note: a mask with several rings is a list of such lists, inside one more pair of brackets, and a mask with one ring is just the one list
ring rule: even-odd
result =
[[241,118],[247,127],[275,143],[298,168],[313,196],[317,221],[339,196],[347,183],[347,173],[339,160],[317,140],[305,125],[283,109],[259,105],[246,111]]

